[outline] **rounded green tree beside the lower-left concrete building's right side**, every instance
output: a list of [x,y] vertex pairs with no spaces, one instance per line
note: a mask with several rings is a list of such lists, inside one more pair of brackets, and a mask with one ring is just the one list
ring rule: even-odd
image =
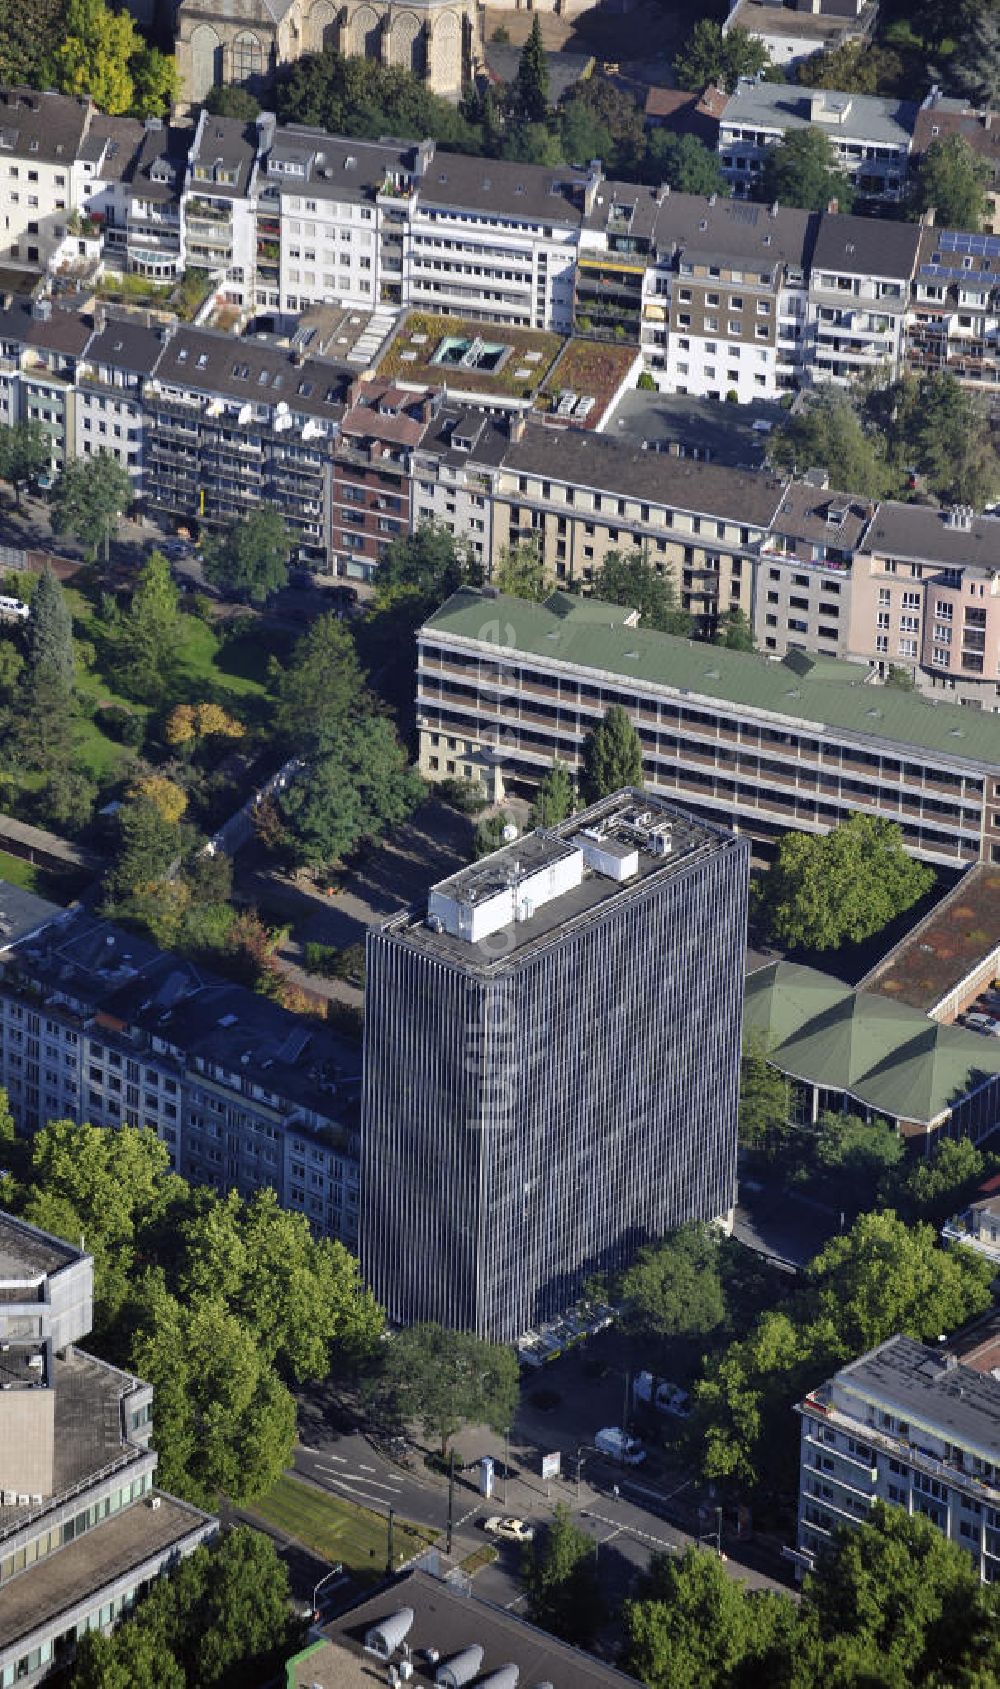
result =
[[152,1442],[166,1490],[213,1507],[277,1483],[296,1441],[296,1404],[220,1295],[179,1302],[147,1274],[130,1366],[155,1390]]

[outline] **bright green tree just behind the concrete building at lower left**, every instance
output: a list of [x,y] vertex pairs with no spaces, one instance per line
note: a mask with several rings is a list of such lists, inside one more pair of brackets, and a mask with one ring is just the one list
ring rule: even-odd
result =
[[101,1331],[128,1297],[140,1226],[155,1223],[177,1191],[169,1152],[155,1132],[52,1120],[32,1140],[25,1219],[71,1243],[83,1236],[95,1260],[95,1319]]

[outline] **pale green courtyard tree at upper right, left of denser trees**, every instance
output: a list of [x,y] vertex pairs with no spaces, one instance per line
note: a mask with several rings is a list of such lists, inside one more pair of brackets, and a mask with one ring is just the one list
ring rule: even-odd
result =
[[831,486],[850,488],[863,498],[882,498],[894,486],[885,441],[865,431],[851,395],[840,387],[821,387],[794,417],[775,427],[767,456],[775,470],[791,475],[826,470]]

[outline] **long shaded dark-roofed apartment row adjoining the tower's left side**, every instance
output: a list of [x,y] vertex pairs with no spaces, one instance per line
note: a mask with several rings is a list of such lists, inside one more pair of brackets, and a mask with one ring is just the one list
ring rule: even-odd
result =
[[270,1186],[358,1243],[360,1052],[323,1022],[154,949],[84,910],[41,917],[0,888],[0,1084],[19,1127],[150,1127],[193,1184]]

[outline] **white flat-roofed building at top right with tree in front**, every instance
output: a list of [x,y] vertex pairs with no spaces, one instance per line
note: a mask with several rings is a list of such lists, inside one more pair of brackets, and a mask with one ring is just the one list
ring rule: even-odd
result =
[[910,100],[743,79],[720,117],[718,154],[733,193],[753,199],[767,149],[792,130],[818,128],[860,199],[899,204],[916,120]]

